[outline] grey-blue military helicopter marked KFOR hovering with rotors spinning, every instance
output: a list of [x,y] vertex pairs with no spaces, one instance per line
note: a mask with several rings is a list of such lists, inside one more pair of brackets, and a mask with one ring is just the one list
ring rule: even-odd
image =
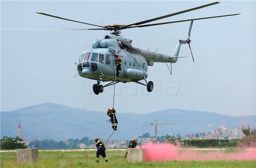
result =
[[[101,26],[101,25],[71,20],[63,17],[53,16],[53,15],[42,13],[42,12],[36,12],[36,13],[49,16],[49,17],[55,17],[58,19],[100,27],[100,28],[89,28],[89,29],[53,29],[53,30],[110,31],[110,34],[105,35],[103,39],[97,39],[93,41],[92,48],[85,50],[83,53],[81,53],[78,58],[78,62],[75,63],[76,69],[78,71],[77,74],[79,76],[97,81],[97,83],[93,84],[92,86],[94,94],[102,93],[105,87],[114,85],[119,82],[123,82],[123,83],[135,82],[140,85],[146,86],[147,91],[152,92],[154,88],[154,83],[152,81],[146,80],[148,78],[148,73],[147,73],[148,66],[153,66],[155,62],[171,63],[172,65],[172,63],[176,63],[178,61],[178,58],[188,57],[188,56],[182,56],[182,57],[179,56],[180,46],[182,44],[188,44],[190,53],[194,62],[194,57],[193,57],[193,53],[190,46],[190,43],[191,43],[190,34],[191,34],[191,29],[192,29],[194,20],[210,19],[210,18],[217,18],[217,17],[228,17],[228,16],[239,15],[240,13],[221,15],[221,16],[212,16],[212,17],[193,18],[193,19],[155,23],[155,24],[146,24],[146,23],[164,19],[167,17],[172,17],[175,15],[189,12],[189,11],[198,10],[198,9],[212,6],[218,3],[220,2],[205,4],[205,5],[191,8],[188,10],[183,10],[183,11],[171,13],[168,15],[164,15],[164,16],[140,21],[137,23],[128,24],[128,25],[113,23],[111,25]],[[148,27],[148,26],[156,26],[156,25],[163,25],[163,24],[188,22],[188,21],[190,21],[190,26],[188,29],[188,38],[180,39],[178,41],[177,45],[173,50],[172,55],[157,53],[157,49],[154,52],[147,49],[142,49],[142,48],[132,46],[132,39],[125,38],[121,35],[121,31],[124,29]],[[1,30],[14,30],[14,29],[1,29]],[[31,29],[23,29],[23,30],[31,30]],[[37,29],[37,30],[45,30],[45,29]],[[50,30],[50,29],[46,29],[46,30]],[[115,76],[117,58],[120,58],[122,61],[121,72],[119,73],[118,77]],[[144,80],[146,84],[140,82],[141,80]],[[106,85],[101,85],[100,84],[101,82],[109,82],[109,83]]]

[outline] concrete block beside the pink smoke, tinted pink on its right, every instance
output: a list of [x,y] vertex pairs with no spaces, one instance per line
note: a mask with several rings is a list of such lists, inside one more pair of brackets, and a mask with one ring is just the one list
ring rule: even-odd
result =
[[147,161],[148,158],[148,148],[129,148],[127,161],[129,163]]

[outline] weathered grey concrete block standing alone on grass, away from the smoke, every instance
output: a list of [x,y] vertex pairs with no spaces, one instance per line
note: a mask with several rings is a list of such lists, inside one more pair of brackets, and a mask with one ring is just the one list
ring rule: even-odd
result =
[[19,149],[17,150],[18,162],[37,162],[38,149]]

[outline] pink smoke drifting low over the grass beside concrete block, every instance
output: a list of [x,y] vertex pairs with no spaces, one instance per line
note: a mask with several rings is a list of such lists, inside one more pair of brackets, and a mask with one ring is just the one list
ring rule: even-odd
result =
[[[170,143],[143,144],[148,148],[144,154],[146,161],[167,160],[256,160],[256,148],[225,152],[224,150],[180,149]],[[138,148],[138,147],[137,147]]]

